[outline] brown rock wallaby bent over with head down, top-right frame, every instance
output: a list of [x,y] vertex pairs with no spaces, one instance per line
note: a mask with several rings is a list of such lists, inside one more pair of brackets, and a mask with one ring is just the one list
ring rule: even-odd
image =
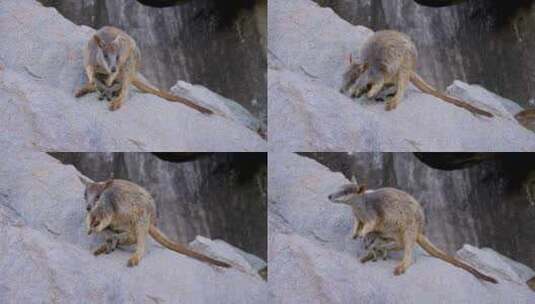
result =
[[352,62],[350,59],[350,66],[344,73],[340,92],[351,98],[363,94],[367,94],[368,98],[374,98],[384,87],[394,86],[395,93],[386,102],[386,110],[389,111],[397,107],[409,82],[412,82],[424,93],[474,114],[493,117],[491,113],[441,93],[426,83],[415,72],[417,57],[416,46],[407,35],[392,30],[378,31],[364,43],[360,62]]

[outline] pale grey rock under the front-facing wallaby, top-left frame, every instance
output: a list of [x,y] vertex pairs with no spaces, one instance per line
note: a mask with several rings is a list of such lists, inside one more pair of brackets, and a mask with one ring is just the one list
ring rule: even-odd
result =
[[[82,49],[93,29],[36,1],[0,3],[0,144],[46,151],[263,151],[258,123],[241,106],[199,86],[180,94],[214,109],[207,116],[130,91],[110,112],[95,94],[76,99]],[[184,85],[181,85],[184,87]],[[185,93],[186,91],[186,93]],[[238,108],[239,110],[234,110]]]

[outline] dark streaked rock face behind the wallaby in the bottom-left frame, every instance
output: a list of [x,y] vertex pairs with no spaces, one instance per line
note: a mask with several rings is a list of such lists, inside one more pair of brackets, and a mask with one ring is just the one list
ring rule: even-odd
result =
[[[181,242],[223,239],[267,258],[267,164],[264,153],[52,153],[95,181],[123,178],[145,187],[158,227]],[[168,161],[171,160],[171,161]]]

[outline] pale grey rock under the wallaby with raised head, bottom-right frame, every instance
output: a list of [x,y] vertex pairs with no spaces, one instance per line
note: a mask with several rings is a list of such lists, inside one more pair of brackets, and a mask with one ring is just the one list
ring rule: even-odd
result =
[[[414,263],[394,276],[400,255],[361,264],[359,240],[350,237],[347,206],[327,196],[349,181],[312,159],[273,153],[269,166],[269,279],[272,303],[531,303],[520,282],[535,272],[488,248],[469,248],[468,262],[494,276],[470,273],[416,250]],[[463,254],[466,248],[459,253]],[[466,256],[466,252],[464,253]],[[511,279],[514,278],[514,279]]]

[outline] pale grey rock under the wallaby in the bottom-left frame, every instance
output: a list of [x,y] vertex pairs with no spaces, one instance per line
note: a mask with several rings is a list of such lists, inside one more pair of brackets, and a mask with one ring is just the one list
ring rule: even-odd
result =
[[1,303],[266,303],[267,283],[222,241],[199,238],[221,269],[151,241],[139,266],[130,249],[95,257],[84,228],[81,174],[47,154],[8,149],[0,160]]

